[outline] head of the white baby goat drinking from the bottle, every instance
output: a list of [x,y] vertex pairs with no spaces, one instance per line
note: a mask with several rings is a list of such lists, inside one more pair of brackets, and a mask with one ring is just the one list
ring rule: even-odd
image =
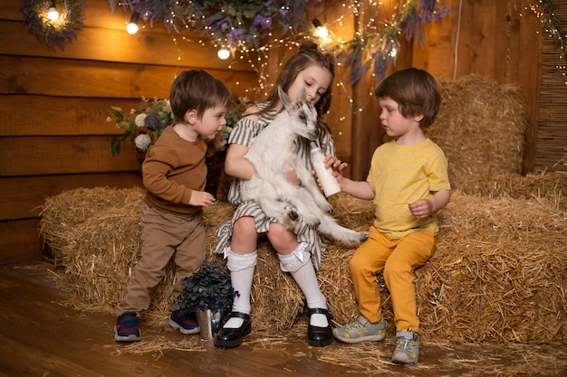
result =
[[308,140],[315,140],[319,137],[317,128],[317,109],[307,103],[305,89],[299,90],[297,102],[287,96],[282,87],[278,87],[278,94],[282,99],[283,107],[289,116],[289,127],[297,136],[305,137]]

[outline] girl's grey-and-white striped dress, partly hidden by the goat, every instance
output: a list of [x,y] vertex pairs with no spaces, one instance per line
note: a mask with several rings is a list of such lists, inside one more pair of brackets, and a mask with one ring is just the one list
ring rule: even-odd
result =
[[[264,108],[265,104],[257,105],[258,108]],[[241,146],[250,146],[255,136],[260,133],[264,127],[270,124],[276,115],[276,110],[262,114],[257,121],[248,118],[242,118],[236,123],[235,128],[230,133],[228,139],[229,144],[239,144]],[[310,147],[307,143],[297,145],[297,153],[303,157],[305,166],[312,170]],[[322,141],[322,152],[325,156],[335,156],[335,147],[330,134],[327,134]],[[313,179],[315,179],[313,177]],[[216,253],[223,253],[225,248],[230,246],[230,239],[232,237],[233,225],[236,220],[243,216],[252,216],[255,218],[256,231],[264,233],[269,230],[269,225],[274,222],[273,218],[267,218],[262,208],[255,202],[244,202],[241,199],[239,191],[238,179],[233,179],[230,189],[228,190],[227,200],[235,207],[235,214],[231,221],[226,221],[221,224],[216,230],[216,237],[218,243],[216,244]],[[327,241],[317,233],[316,228],[307,226],[306,224],[299,224],[293,232],[297,235],[299,242],[306,242],[309,245],[312,254],[312,262],[315,269],[321,267],[322,253],[326,249]]]

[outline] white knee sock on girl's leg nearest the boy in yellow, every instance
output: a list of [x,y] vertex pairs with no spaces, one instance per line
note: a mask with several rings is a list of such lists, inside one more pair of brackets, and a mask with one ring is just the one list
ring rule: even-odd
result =
[[[278,254],[278,258],[280,259],[282,270],[290,272],[297,285],[302,289],[307,301],[307,307],[326,309],[327,301],[319,288],[319,281],[313,268],[308,245],[302,242],[293,253],[289,255]],[[322,314],[312,315],[309,323],[319,327],[329,325],[327,316]]]

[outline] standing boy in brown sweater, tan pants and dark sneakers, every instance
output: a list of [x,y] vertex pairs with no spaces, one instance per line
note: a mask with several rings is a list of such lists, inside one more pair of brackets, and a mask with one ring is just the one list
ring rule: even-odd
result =
[[[174,124],[151,146],[142,165],[146,196],[141,217],[141,258],[134,267],[118,307],[114,326],[117,342],[141,339],[138,319],[147,310],[150,294],[165,278],[170,259],[177,265],[170,297],[169,325],[183,334],[199,332],[195,314],[178,310],[182,280],[201,266],[207,256],[203,207],[216,202],[205,191],[207,165],[205,138],[222,146],[222,127],[232,94],[206,71],[184,71],[173,81],[169,94]],[[213,151],[214,153],[214,151]]]

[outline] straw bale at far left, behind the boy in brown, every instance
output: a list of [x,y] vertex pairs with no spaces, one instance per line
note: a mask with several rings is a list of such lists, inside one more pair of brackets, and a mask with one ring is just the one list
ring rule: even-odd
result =
[[[55,268],[73,306],[114,313],[139,259],[141,203],[144,191],[132,189],[69,190],[48,198],[40,235],[51,250]],[[167,306],[174,278],[167,276],[152,293],[150,312]]]

